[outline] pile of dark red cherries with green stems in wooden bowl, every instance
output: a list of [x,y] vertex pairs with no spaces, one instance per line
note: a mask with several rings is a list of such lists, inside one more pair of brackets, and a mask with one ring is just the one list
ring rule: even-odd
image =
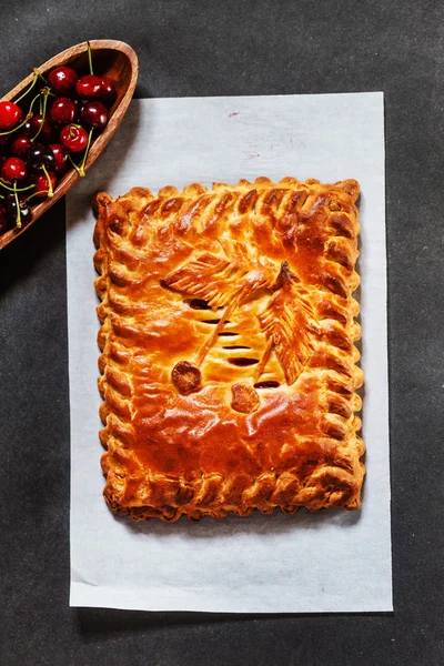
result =
[[27,224],[69,169],[84,175],[93,135],[108,124],[115,99],[111,81],[93,73],[89,44],[88,58],[89,74],[58,67],[46,79],[34,70],[20,98],[0,101],[0,234]]

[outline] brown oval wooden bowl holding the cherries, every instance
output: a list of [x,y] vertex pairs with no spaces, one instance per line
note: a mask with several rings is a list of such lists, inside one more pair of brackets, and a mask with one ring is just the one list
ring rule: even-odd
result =
[[[117,98],[109,109],[109,122],[107,127],[91,143],[84,165],[85,171],[102,152],[122,121],[134,92],[139,70],[138,57],[128,44],[109,39],[97,39],[89,43],[92,50],[94,74],[110,79],[117,90]],[[88,43],[83,42],[62,51],[38,69],[44,77],[50,70],[62,64],[72,67],[80,75],[88,74]],[[23,81],[16,85],[13,90],[2,97],[0,101],[17,99],[20,93],[30,85],[32,79],[33,73],[23,79]],[[46,199],[42,203],[32,206],[32,220],[28,224],[23,225],[21,229],[16,228],[0,235],[0,250],[20,234],[24,233],[36,220],[43,215],[51,205],[67,193],[79,178],[79,173],[75,169],[70,169],[58,182],[57,188],[54,189],[54,195],[51,199]]]

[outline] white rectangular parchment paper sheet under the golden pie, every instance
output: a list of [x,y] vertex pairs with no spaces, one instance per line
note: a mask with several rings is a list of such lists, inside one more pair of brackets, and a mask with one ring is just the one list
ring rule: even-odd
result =
[[[293,175],[360,181],[362,509],[147,524],[102,498],[91,200],[99,190]],[[135,100],[68,196],[72,606],[149,610],[392,609],[382,93]]]

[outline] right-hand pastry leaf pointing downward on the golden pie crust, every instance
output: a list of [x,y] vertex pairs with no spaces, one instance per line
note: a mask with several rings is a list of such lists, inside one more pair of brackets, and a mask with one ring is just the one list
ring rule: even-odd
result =
[[[303,297],[299,279],[286,263],[282,264],[275,282],[276,290],[266,309],[259,315],[269,341],[266,360],[274,349],[285,380],[293,384],[312,354],[312,335],[317,332],[315,314]],[[261,372],[265,363],[261,363]]]

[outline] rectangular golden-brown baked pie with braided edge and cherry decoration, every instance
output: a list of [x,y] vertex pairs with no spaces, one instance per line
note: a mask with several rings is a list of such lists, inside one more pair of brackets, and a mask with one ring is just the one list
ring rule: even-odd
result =
[[97,196],[104,497],[137,519],[356,508],[359,184]]

